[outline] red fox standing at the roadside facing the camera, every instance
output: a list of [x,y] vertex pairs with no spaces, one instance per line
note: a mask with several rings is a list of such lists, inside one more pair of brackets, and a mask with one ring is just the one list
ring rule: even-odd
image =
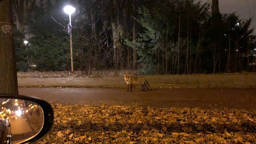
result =
[[148,81],[144,77],[133,77],[133,76],[131,76],[130,73],[129,74],[124,73],[124,80],[125,80],[126,84],[128,85],[127,91],[129,91],[129,87],[131,87],[131,91],[132,91],[133,84],[140,84],[143,87],[142,91],[145,90],[145,86],[149,90],[151,90],[151,87],[150,87]]

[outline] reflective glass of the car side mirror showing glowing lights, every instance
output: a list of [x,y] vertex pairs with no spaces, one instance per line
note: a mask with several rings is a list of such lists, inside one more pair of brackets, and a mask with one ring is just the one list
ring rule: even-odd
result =
[[40,105],[0,98],[0,144],[18,144],[35,137],[44,125]]

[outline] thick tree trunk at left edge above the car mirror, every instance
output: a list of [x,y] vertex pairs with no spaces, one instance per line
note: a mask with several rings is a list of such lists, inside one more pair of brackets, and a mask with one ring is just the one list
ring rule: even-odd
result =
[[0,2],[0,13],[0,93],[18,95],[11,1]]

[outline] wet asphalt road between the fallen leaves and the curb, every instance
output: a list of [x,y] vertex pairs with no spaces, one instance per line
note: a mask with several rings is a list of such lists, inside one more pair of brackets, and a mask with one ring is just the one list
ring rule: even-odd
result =
[[256,108],[256,89],[134,89],[127,92],[117,88],[19,88],[19,94],[69,104]]

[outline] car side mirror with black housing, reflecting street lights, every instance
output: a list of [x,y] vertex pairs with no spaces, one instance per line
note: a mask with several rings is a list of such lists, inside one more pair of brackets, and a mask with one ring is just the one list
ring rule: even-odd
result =
[[51,129],[51,105],[33,97],[0,94],[0,144],[34,143]]

